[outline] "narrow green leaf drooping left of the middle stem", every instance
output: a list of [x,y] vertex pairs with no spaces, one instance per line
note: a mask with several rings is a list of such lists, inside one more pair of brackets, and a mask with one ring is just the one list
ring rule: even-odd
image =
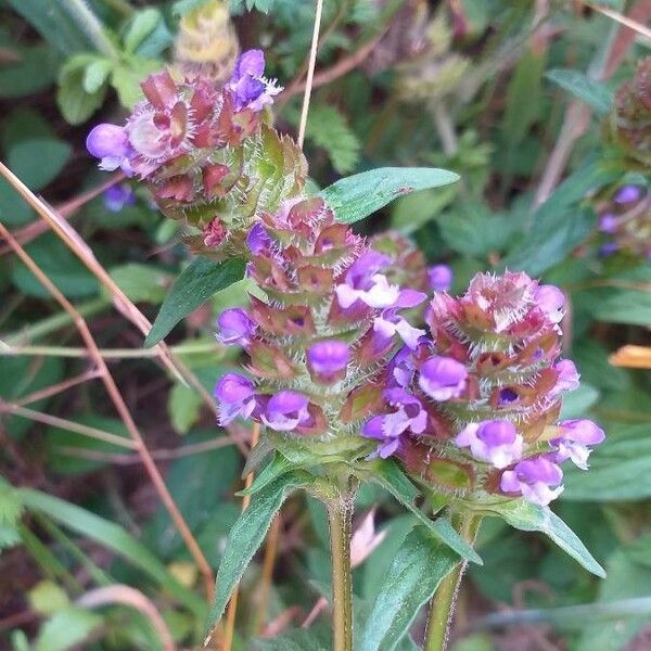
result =
[[265,539],[271,520],[288,494],[304,486],[307,481],[305,476],[297,473],[288,473],[268,484],[253,496],[251,503],[233,525],[217,572],[215,600],[208,615],[206,634],[209,634],[221,618],[231,592],[244,574],[253,554]]

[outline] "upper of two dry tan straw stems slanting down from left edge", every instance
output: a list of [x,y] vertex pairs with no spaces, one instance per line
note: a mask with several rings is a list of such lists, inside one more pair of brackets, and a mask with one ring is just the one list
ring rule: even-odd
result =
[[[108,276],[104,267],[94,257],[90,247],[79,237],[77,231],[61,217],[43,200],[39,199],[9,169],[0,163],[0,174],[10,182],[11,186],[21,194],[27,204],[29,204],[43,219],[48,226],[63,240],[71,251],[86,265],[86,267],[95,276],[102,285],[113,297],[113,304],[116,309],[131,323],[133,323],[143,335],[148,335],[152,329],[151,321],[133,305],[129,297],[119,289],[115,281]],[[5,229],[5,232],[7,229]],[[8,232],[9,234],[9,232]],[[14,240],[15,242],[15,240]],[[165,367],[178,378],[181,382],[189,384],[202,397],[207,407],[217,416],[217,406],[210,394],[206,391],[199,379],[190,369],[179,359],[177,359],[166,344],[157,344],[154,348]],[[101,356],[100,356],[101,357]],[[246,446],[241,441],[234,442],[242,454],[246,454]]]

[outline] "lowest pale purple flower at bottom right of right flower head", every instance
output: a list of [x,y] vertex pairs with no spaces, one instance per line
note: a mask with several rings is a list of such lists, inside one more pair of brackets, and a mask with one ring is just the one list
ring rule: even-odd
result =
[[563,471],[556,463],[545,457],[532,457],[505,471],[499,487],[545,507],[563,492],[562,482]]

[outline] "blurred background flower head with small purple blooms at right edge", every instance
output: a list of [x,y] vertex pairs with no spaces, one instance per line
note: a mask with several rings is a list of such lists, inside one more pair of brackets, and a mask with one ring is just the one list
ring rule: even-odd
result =
[[625,252],[651,259],[651,194],[640,186],[622,186],[600,206],[602,255]]

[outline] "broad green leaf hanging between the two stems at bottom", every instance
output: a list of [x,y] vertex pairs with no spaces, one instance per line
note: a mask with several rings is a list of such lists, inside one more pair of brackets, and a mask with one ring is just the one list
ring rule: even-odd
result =
[[407,535],[380,588],[362,634],[361,651],[393,651],[421,605],[459,562],[424,526]]

